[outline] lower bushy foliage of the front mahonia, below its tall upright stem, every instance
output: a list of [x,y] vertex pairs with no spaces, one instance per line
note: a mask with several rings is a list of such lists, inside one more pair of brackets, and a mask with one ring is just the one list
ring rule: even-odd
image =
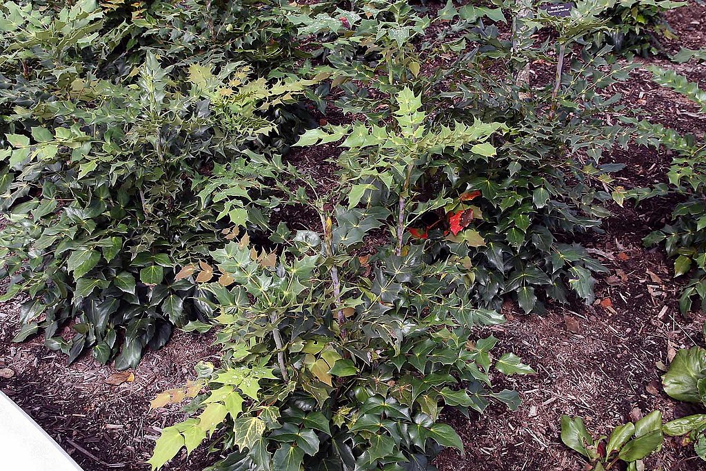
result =
[[[462,273],[425,263],[418,245],[352,256],[349,236],[386,213],[335,213],[319,232],[278,230],[284,246],[273,252],[242,235],[213,251],[215,268],[197,270],[215,296],[223,365],[202,368],[208,392],[191,407],[203,411],[164,429],[153,467],[209,434],[230,453],[213,470],[425,466],[437,446],[462,450],[437,422],[441,405],[517,407],[516,393],[489,388],[496,339],[471,338],[472,326],[503,319],[469,305]],[[510,353],[495,367],[534,372]]]

